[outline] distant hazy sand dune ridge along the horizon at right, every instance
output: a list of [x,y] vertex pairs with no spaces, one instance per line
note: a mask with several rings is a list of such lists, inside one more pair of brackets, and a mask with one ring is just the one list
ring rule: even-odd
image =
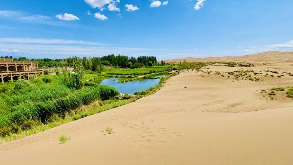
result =
[[166,60],[167,63],[183,62],[293,62],[293,52],[264,52],[246,56],[226,56],[208,58],[185,58]]

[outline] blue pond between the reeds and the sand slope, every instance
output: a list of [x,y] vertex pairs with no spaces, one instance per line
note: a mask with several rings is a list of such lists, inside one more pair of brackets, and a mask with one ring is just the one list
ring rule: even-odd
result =
[[118,82],[120,78],[106,79],[101,82],[102,85],[114,86],[120,93],[134,94],[137,91],[146,90],[152,86],[157,85],[160,79],[142,79],[131,82]]

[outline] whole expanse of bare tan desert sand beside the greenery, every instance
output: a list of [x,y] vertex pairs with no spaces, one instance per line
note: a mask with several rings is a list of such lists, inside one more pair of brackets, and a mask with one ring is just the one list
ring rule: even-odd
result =
[[[260,92],[293,86],[293,54],[241,58],[259,65],[185,70],[134,103],[0,145],[0,164],[292,165],[293,100],[286,91],[274,100]],[[225,73],[236,70],[262,71],[263,81]],[[264,77],[266,70],[286,73]],[[106,135],[107,126],[114,133]],[[61,134],[70,141],[60,144]]]

